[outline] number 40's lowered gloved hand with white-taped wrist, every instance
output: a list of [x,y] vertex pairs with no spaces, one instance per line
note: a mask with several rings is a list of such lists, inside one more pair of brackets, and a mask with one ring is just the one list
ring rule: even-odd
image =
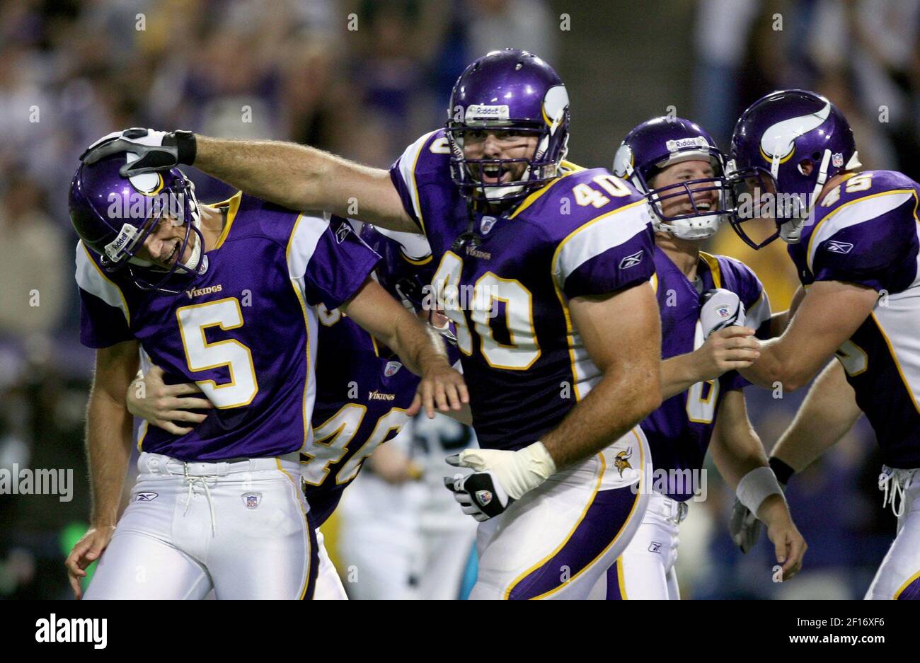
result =
[[444,486],[454,493],[463,512],[480,522],[498,516],[556,473],[556,463],[543,442],[516,452],[466,449],[448,456],[447,463],[475,470],[473,474],[445,476]]

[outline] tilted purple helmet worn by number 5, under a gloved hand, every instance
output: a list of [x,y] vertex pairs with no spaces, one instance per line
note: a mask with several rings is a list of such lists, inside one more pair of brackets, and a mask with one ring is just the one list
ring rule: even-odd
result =
[[[133,154],[113,154],[77,168],[70,185],[70,220],[83,243],[98,254],[104,270],[111,273],[127,267],[139,288],[176,293],[185,285],[167,288],[168,280],[178,274],[191,280],[207,270],[195,185],[178,168],[121,176],[119,168],[132,157],[136,158]],[[185,225],[185,236],[176,248],[179,259],[170,269],[137,257],[144,240],[164,217]],[[196,236],[192,255],[182,262],[192,234]]]

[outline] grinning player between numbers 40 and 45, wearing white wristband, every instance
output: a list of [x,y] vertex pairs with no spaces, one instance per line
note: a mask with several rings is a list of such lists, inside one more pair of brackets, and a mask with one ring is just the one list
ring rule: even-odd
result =
[[704,487],[707,448],[726,481],[766,523],[784,577],[799,570],[805,552],[778,486],[772,489],[776,477],[748,421],[747,383],[736,370],[757,357],[753,334],[769,336],[766,292],[742,262],[700,250],[728,211],[724,168],[707,131],[680,118],[639,124],[614,158],[615,175],[645,192],[654,214],[652,284],[664,361],[663,402],[641,423],[661,482],[638,533],[607,572],[608,599],[680,598],[674,574],[679,523]]

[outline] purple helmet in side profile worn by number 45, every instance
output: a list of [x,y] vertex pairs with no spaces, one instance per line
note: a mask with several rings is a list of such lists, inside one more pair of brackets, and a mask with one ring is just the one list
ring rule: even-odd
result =
[[[806,90],[780,90],[759,98],[742,113],[731,136],[727,165],[733,189],[731,227],[753,248],[782,237],[799,241],[824,184],[861,166],[853,131],[826,97]],[[742,223],[773,207],[776,232],[756,242]]]

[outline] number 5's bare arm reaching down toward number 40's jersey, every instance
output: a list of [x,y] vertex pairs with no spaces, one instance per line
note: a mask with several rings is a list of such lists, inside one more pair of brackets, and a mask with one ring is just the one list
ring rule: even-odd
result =
[[[431,326],[398,303],[376,281],[368,279],[339,308],[358,325],[393,350],[409,371],[421,376],[421,405],[429,417],[434,407],[459,411],[469,402],[463,375],[451,367],[443,340]],[[410,415],[415,414],[411,408]]]

